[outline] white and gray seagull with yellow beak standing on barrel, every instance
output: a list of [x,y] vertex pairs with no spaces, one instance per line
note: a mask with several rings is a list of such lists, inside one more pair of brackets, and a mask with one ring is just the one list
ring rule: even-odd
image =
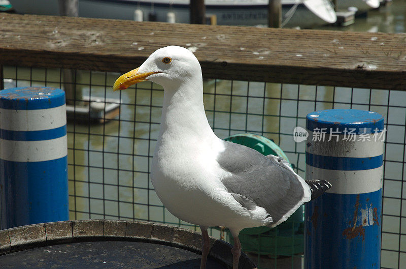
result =
[[168,211],[200,226],[200,269],[206,268],[210,251],[209,227],[229,228],[237,269],[242,229],[275,227],[331,187],[323,180],[304,181],[281,157],[218,138],[205,113],[200,64],[188,49],[156,50],[139,68],[120,76],[113,89],[147,80],[164,89],[151,182]]

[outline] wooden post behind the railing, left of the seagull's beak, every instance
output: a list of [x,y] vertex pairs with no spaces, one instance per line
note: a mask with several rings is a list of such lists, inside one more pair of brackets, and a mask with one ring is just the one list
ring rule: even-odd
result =
[[[78,17],[78,0],[59,0],[59,14],[60,16]],[[76,89],[74,75],[75,72],[72,69],[62,70],[66,104],[73,104],[75,99],[81,100],[82,98],[81,89]]]

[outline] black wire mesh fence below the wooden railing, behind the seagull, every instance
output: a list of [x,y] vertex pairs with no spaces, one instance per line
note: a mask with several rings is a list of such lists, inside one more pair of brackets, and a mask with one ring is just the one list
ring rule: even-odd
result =
[[[198,229],[168,212],[149,180],[163,89],[143,82],[113,93],[112,85],[118,75],[78,70],[66,76],[62,69],[3,67],[5,88],[38,85],[73,91],[67,94],[71,219],[143,220]],[[305,143],[294,142],[293,129],[306,126],[309,112],[353,108],[385,116],[382,268],[406,266],[404,100],[404,91],[204,80],[206,114],[217,136],[226,138],[248,132],[272,139],[302,177]],[[291,230],[299,240],[296,243],[302,244],[302,228]],[[223,232],[214,228],[211,235],[220,237]],[[277,240],[282,233],[275,229],[255,235],[258,242],[273,242],[273,248],[267,252],[244,244],[243,250],[246,248],[261,268],[300,268],[302,251],[295,253],[290,248],[288,254],[283,252],[282,243]],[[289,244],[296,244],[294,240]]]

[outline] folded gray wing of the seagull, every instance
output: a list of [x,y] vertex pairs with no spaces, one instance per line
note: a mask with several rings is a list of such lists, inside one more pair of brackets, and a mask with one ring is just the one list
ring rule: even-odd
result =
[[252,203],[265,208],[273,218],[268,226],[286,220],[294,212],[293,208],[303,203],[304,187],[283,158],[265,157],[244,145],[223,142],[225,150],[217,162],[232,173],[224,178],[224,186],[247,209],[252,210]]

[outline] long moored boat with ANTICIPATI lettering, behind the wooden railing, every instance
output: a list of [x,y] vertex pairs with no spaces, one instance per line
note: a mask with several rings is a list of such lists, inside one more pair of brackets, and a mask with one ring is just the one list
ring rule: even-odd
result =
[[[17,13],[59,15],[58,1],[10,0]],[[189,0],[78,0],[79,16],[90,18],[149,20],[189,23]],[[334,23],[336,15],[328,0],[281,0],[282,26],[310,28]],[[206,0],[206,14],[219,25],[267,25],[268,0]],[[138,13],[137,13],[137,12]],[[174,14],[174,15],[173,15]],[[173,18],[175,16],[175,20]]]

